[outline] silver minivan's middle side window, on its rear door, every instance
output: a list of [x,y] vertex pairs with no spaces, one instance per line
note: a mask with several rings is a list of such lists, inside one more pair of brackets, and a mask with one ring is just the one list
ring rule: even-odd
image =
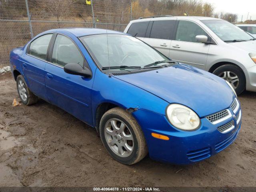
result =
[[150,38],[171,39],[176,20],[154,21]]

